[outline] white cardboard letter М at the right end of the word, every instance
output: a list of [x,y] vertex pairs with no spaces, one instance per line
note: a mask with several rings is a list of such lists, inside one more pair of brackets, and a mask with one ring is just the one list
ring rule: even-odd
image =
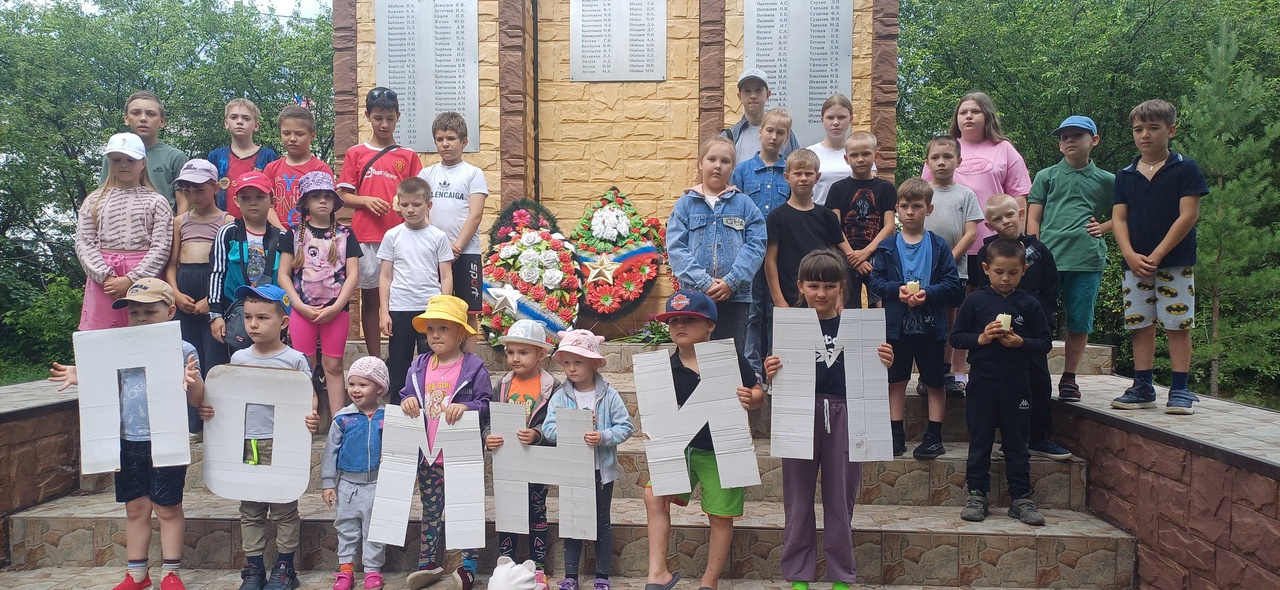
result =
[[818,314],[812,308],[773,310],[773,353],[782,369],[773,376],[769,454],[812,459],[815,393],[813,363],[845,353],[845,403],[849,408],[849,461],[892,461],[888,427],[888,370],[879,361],[884,342],[883,310],[845,310],[835,351],[827,351]]

